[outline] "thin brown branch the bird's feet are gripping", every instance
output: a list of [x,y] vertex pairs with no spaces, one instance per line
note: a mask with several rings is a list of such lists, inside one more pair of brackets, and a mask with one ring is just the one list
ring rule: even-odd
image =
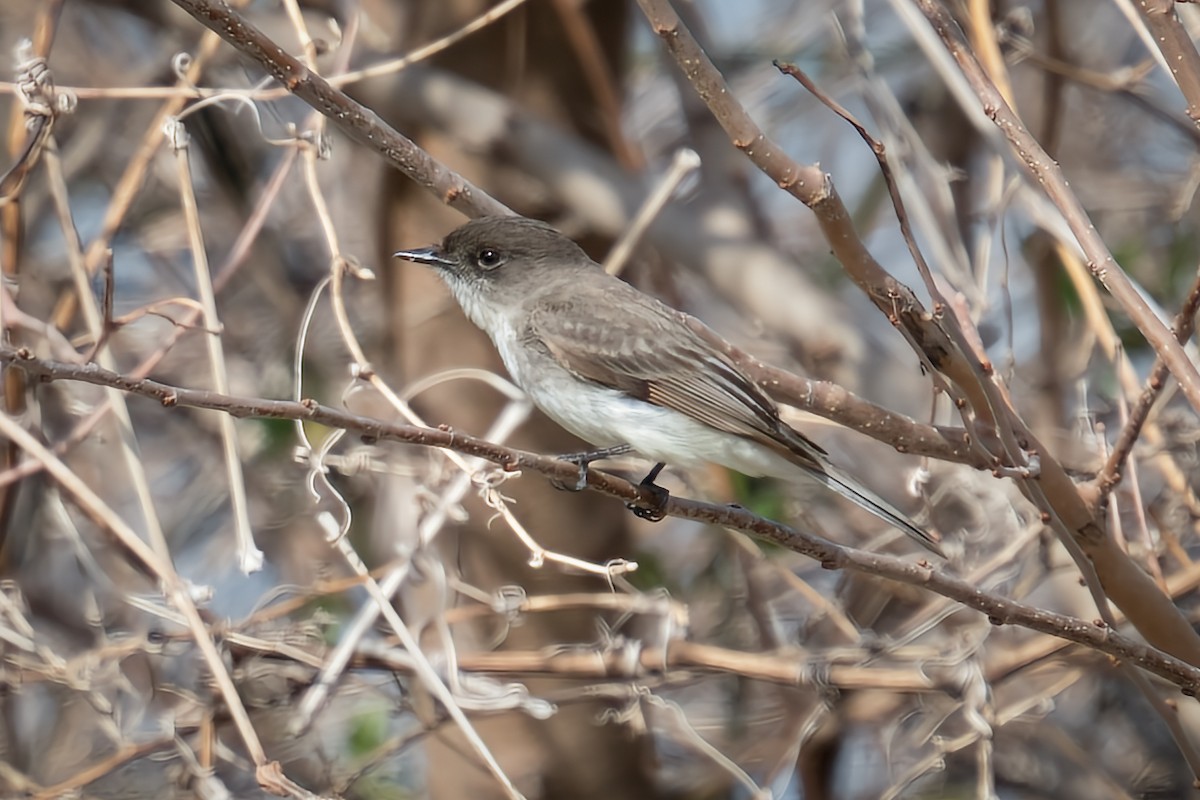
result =
[[[155,380],[131,379],[95,365],[64,363],[35,357],[28,350],[0,347],[0,365],[11,365],[41,381],[77,380],[97,386],[112,386],[133,395],[149,397],[166,407],[188,407],[224,411],[236,417],[266,417],[318,422],[354,432],[366,440],[389,440],[407,444],[446,447],[478,456],[506,470],[529,469],[559,481],[578,477],[575,464],[552,456],[526,452],[485,441],[475,437],[442,428],[421,428],[395,425],[383,420],[349,414],[313,401],[272,401],[217,395],[210,391],[182,389]],[[654,495],[600,470],[588,471],[588,488],[619,498],[626,503],[652,503]],[[1187,694],[1200,692],[1200,669],[1152,646],[1139,644],[1104,625],[1019,603],[979,589],[978,583],[952,577],[930,567],[928,561],[868,553],[838,545],[821,536],[790,525],[766,519],[744,509],[720,506],[696,500],[670,498],[664,511],[674,517],[695,519],[744,531],[751,536],[775,542],[806,555],[829,570],[846,570],[874,575],[898,583],[919,587],[949,597],[967,608],[978,610],[996,625],[1016,625],[1040,633],[1049,633],[1081,644],[1130,664],[1141,667],[1178,686]]]

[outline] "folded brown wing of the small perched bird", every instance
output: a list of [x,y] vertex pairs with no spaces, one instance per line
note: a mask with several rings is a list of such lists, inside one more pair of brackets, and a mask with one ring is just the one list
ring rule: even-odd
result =
[[539,303],[527,317],[529,343],[581,378],[782,449],[794,432],[775,404],[694,333],[683,313],[634,290],[614,287],[613,295],[586,309],[586,299]]

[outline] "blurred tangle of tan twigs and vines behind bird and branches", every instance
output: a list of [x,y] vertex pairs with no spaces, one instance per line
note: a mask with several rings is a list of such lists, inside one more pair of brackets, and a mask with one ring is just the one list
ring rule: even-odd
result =
[[[434,158],[598,260],[678,150],[694,149],[702,167],[623,277],[772,365],[922,422],[960,425],[830,257],[812,215],[730,144],[636,5],[233,5]],[[1170,319],[1200,255],[1200,134],[1130,4],[948,5]],[[798,162],[820,163],[872,254],[928,299],[869,148],[772,60],[798,65],[887,144],[954,313],[978,329],[1054,456],[1079,480],[1094,476],[1154,353],[1097,294],[1061,217],[913,5],[674,7],[758,125]],[[1200,30],[1194,7],[1178,11]],[[455,43],[395,64],[474,20]],[[583,449],[506,384],[490,342],[434,275],[390,258],[464,217],[172,2],[10,0],[0,53],[12,65],[0,76],[8,342],[395,422],[410,403],[431,426],[544,453]],[[38,56],[48,72],[34,68]],[[30,74],[58,109],[36,162],[23,158]],[[466,480],[437,450],[316,425],[230,423],[78,383],[26,385],[19,373],[6,373],[5,402],[169,552],[268,756],[322,796],[511,796],[414,676],[419,660],[528,798],[1193,792],[1166,726],[1108,658],[992,626],[943,597],[826,571],[736,531],[646,523],[612,498],[556,491],[535,474],[500,477],[469,463]],[[946,569],[990,593],[1097,615],[1078,569],[1009,481],[901,455],[794,409],[785,416],[940,531]],[[1198,433],[1169,389],[1110,505],[1130,553],[1189,614]],[[156,582],[5,445],[0,794],[266,796]],[[646,465],[611,468],[637,480]],[[668,470],[662,483],[912,553],[896,531],[810,487],[716,468]],[[587,564],[538,564],[518,528]],[[239,530],[263,552],[250,575],[241,566],[253,551]],[[338,531],[346,537],[331,543]],[[606,576],[614,559],[637,570]],[[362,565],[394,581],[420,652],[364,616],[373,603]],[[343,644],[348,664],[314,710],[318,670],[355,624],[365,636]],[[1188,730],[1194,706],[1180,704]]]

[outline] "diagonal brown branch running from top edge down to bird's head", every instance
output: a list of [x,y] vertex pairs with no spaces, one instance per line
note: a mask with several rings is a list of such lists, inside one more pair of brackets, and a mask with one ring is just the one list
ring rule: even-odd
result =
[[512,213],[499,200],[449,169],[384,122],[378,114],[308,70],[223,0],[174,0],[203,25],[250,56],[293,95],[325,115],[342,133],[469,217]]

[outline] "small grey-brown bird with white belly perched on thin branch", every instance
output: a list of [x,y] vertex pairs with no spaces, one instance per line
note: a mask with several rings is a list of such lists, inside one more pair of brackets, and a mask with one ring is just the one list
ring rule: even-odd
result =
[[[482,217],[397,258],[436,269],[512,379],[560,426],[613,455],[715,462],[744,475],[808,475],[920,545],[937,540],[829,463],[683,312],[608,275],[574,241],[524,217]],[[720,342],[715,333],[713,341]],[[590,453],[578,459],[586,480]]]

